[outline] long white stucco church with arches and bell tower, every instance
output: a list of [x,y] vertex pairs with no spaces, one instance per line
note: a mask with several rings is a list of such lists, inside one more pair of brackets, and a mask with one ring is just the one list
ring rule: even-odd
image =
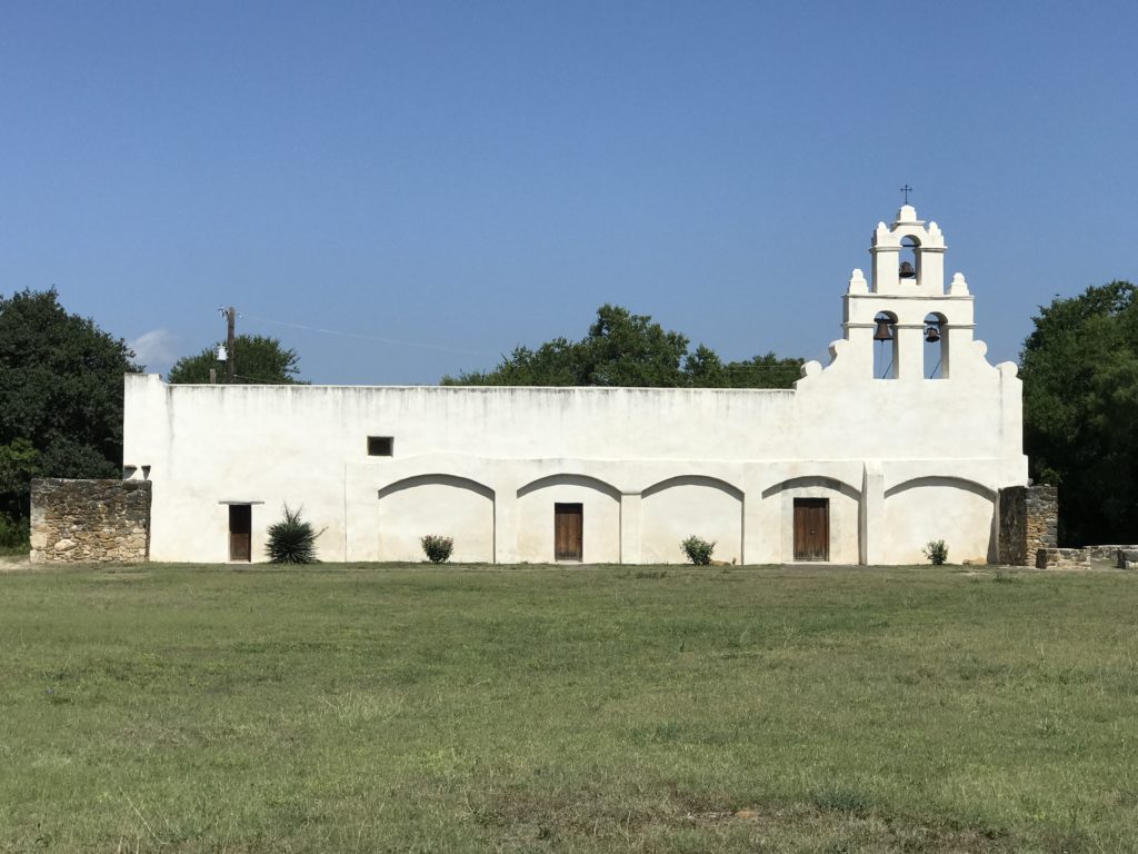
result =
[[993,557],[997,493],[1028,483],[1021,384],[946,287],[906,205],[855,270],[830,364],[792,391],[171,386],[126,377],[124,467],[151,482],[154,560],[264,560],[282,506],[323,560],[745,564]]

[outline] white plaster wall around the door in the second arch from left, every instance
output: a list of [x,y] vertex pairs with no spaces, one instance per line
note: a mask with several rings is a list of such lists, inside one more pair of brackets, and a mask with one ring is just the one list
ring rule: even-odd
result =
[[554,563],[553,506],[582,504],[582,563],[620,563],[620,499],[602,483],[554,475],[523,488],[517,506],[517,559]]

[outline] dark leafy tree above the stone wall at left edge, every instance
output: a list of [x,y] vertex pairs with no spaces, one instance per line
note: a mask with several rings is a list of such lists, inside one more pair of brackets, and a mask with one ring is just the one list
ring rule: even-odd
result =
[[28,481],[122,471],[121,338],[68,314],[55,288],[0,296],[0,514],[27,517]]

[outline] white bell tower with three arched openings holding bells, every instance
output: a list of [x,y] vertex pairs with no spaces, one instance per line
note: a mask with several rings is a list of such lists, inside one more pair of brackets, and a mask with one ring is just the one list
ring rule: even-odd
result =
[[[951,354],[971,352],[972,295],[960,273],[946,289],[945,249],[940,227],[918,220],[912,205],[901,206],[892,225],[877,223],[869,244],[872,277],[866,281],[855,270],[843,297],[843,359],[855,363],[857,376],[950,379]],[[877,370],[875,347],[884,366]],[[935,363],[926,364],[933,358]]]

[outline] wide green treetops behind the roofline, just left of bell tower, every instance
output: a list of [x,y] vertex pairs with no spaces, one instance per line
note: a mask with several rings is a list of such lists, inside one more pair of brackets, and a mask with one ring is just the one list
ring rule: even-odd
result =
[[688,352],[687,336],[651,317],[605,304],[580,340],[519,346],[493,370],[444,377],[443,385],[789,388],[801,364],[773,353],[725,364],[703,344]]

